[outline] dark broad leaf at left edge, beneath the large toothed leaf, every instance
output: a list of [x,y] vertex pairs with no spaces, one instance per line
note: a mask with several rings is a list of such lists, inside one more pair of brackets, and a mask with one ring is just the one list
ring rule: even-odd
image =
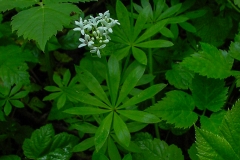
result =
[[[29,84],[29,73],[27,62],[38,62],[32,52],[22,50],[15,45],[0,47],[0,78],[5,85]],[[17,58],[16,58],[17,57]]]

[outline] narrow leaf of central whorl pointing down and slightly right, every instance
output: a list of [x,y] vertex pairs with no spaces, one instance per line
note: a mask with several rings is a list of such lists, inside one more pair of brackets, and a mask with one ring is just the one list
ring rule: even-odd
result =
[[128,147],[131,140],[131,135],[126,123],[122,120],[121,117],[119,117],[117,113],[114,113],[113,129],[118,140],[122,144],[126,145],[126,147]]

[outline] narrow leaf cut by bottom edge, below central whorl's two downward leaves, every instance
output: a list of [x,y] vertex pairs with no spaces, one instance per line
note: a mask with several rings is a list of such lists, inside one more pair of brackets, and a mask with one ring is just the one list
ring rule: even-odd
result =
[[121,155],[111,137],[108,138],[108,155],[111,160],[121,160]]

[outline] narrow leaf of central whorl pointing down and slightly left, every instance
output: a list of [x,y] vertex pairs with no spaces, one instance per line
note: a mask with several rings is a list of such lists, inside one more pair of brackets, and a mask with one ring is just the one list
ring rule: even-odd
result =
[[95,143],[95,148],[97,152],[102,148],[102,146],[104,145],[104,143],[106,142],[109,136],[112,120],[113,120],[113,112],[109,113],[105,117],[105,119],[101,122],[95,134],[94,143]]

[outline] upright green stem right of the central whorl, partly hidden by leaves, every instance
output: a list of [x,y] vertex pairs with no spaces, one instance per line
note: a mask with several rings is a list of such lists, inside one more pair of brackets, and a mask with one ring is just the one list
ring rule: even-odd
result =
[[[148,67],[149,67],[149,74],[153,74],[153,56],[152,56],[152,49],[151,48],[148,49]],[[153,85],[154,85],[154,81],[152,80],[150,82],[150,86],[153,86]],[[154,105],[156,103],[155,96],[153,96],[151,98],[151,100],[152,100],[152,105]],[[160,133],[159,133],[158,124],[155,123],[154,124],[154,128],[155,128],[156,137],[158,139],[160,139]]]

